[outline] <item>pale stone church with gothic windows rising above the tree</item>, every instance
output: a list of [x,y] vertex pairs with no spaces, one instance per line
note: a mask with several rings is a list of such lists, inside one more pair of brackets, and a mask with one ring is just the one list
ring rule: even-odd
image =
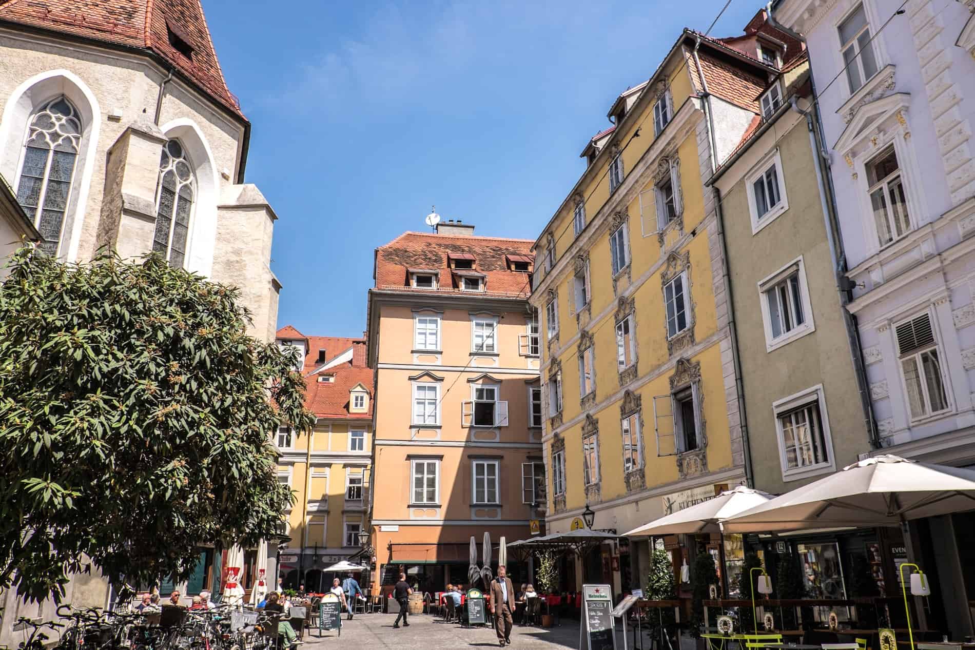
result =
[[274,340],[274,210],[199,0],[0,2],[0,174],[72,262],[158,250],[240,287]]

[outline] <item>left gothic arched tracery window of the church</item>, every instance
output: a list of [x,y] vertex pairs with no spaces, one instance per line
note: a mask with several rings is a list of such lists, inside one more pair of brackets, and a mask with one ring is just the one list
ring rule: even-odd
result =
[[81,117],[64,96],[41,106],[30,119],[17,201],[41,233],[42,249],[58,254],[64,213],[81,142]]

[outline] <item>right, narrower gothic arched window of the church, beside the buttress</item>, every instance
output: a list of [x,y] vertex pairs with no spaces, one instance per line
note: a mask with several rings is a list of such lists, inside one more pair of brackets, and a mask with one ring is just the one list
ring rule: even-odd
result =
[[163,147],[163,157],[159,161],[156,234],[152,249],[163,253],[172,266],[180,268],[186,256],[194,191],[193,168],[186,149],[179,140],[170,140]]

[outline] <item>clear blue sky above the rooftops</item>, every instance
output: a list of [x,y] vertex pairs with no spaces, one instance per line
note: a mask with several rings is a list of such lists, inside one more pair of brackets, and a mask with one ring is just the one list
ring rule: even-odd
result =
[[[204,0],[253,123],[247,181],[280,217],[278,325],[361,335],[373,249],[425,230],[432,204],[477,234],[534,239],[613,99],[723,4]],[[735,0],[712,35],[761,6]]]

